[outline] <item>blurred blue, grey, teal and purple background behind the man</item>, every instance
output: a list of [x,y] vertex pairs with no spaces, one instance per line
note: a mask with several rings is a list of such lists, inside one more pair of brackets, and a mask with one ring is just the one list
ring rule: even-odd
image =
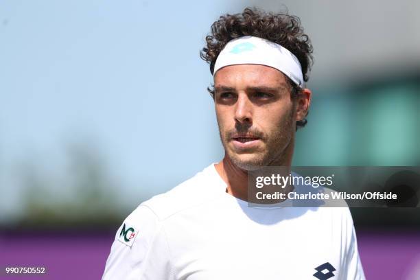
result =
[[[199,51],[248,5],[314,45],[294,165],[420,165],[419,1],[1,1],[0,266],[99,278],[128,213],[222,158]],[[418,209],[352,212],[368,279],[420,279]]]

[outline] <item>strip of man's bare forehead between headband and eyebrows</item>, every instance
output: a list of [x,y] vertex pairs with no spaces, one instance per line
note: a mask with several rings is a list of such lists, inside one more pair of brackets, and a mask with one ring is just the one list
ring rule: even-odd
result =
[[229,65],[215,73],[214,84],[279,86],[286,80],[281,71],[266,65]]

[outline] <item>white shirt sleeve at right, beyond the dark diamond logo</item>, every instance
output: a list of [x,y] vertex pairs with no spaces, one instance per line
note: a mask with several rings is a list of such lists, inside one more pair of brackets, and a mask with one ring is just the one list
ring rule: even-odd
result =
[[360,261],[358,242],[355,234],[353,219],[348,207],[345,208],[345,256],[344,256],[344,280],[366,280],[364,277],[364,271],[362,262]]

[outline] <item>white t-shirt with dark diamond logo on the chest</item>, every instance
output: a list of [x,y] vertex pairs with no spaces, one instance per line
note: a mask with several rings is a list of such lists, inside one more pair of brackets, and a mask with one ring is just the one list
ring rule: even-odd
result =
[[346,207],[248,207],[213,164],[141,203],[102,279],[365,279]]

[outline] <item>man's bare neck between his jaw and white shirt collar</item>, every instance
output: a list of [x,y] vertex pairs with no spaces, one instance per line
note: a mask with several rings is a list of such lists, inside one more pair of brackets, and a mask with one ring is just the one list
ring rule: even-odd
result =
[[[287,166],[290,169],[294,148],[292,142],[285,148],[284,153],[281,155],[281,160],[273,161],[269,166]],[[228,194],[248,201],[248,172],[246,170],[237,167],[227,153],[224,154],[224,158],[220,163],[215,164],[215,169],[226,183],[226,192]]]

